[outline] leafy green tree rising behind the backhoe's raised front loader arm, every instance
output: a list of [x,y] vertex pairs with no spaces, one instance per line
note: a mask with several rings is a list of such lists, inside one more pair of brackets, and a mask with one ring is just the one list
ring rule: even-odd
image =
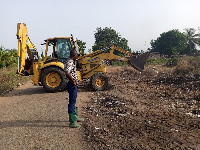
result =
[[112,28],[105,27],[102,29],[99,27],[96,29],[94,37],[95,43],[94,46],[92,46],[92,51],[103,49],[114,44],[115,46],[131,52],[131,49],[128,47],[128,40],[122,38],[121,35]]

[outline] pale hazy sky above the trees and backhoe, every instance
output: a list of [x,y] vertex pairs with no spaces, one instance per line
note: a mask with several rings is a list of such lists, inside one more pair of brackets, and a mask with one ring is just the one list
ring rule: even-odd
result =
[[111,27],[133,51],[172,29],[200,27],[200,0],[0,0],[0,46],[17,49],[17,23],[25,23],[39,53],[52,37],[74,37],[94,45],[97,27]]

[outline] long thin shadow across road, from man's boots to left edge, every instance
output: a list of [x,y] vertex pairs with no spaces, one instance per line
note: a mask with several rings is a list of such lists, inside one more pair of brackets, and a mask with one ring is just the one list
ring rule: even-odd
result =
[[68,121],[60,120],[13,120],[13,121],[0,121],[0,129],[10,127],[69,127]]

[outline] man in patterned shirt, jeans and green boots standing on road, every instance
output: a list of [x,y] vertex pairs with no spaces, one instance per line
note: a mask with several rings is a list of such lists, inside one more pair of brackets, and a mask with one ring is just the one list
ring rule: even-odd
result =
[[75,60],[78,58],[78,53],[76,50],[70,51],[70,57],[65,63],[65,73],[69,82],[66,84],[67,91],[69,93],[69,104],[68,104],[68,113],[69,113],[69,126],[72,128],[79,128],[81,125],[76,124],[76,121],[84,121],[83,118],[78,116],[78,107],[76,107],[76,98],[78,90],[78,76],[76,73]]

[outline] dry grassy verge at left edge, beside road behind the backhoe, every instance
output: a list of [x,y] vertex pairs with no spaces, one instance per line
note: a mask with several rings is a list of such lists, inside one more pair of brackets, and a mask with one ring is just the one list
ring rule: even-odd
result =
[[21,76],[16,74],[17,67],[15,65],[0,69],[0,95],[12,90],[19,83],[25,83],[31,78],[29,76]]

